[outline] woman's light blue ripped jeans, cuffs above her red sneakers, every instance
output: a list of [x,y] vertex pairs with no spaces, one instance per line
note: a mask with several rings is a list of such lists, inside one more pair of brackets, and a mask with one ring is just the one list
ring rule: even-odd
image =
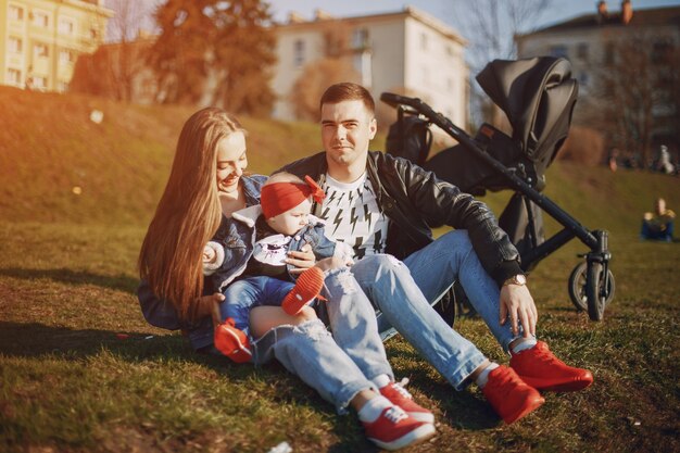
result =
[[[373,305],[348,268],[332,269],[325,279],[332,334],[319,319],[278,326],[251,344],[253,362],[272,358],[345,413],[362,390],[377,391],[372,379],[394,378]],[[323,302],[324,303],[324,302]]]

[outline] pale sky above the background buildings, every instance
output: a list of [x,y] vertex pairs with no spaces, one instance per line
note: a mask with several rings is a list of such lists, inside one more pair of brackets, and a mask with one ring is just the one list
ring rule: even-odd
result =
[[[405,5],[412,5],[430,13],[455,28],[456,22],[453,17],[453,4],[464,1],[476,0],[269,0],[269,4],[272,5],[274,17],[279,22],[285,22],[290,11],[295,11],[306,18],[312,18],[314,10],[322,9],[332,15],[342,17],[395,12],[403,10]],[[537,21],[534,28],[563,22],[582,14],[592,14],[595,12],[596,3],[597,0],[553,0],[553,7],[550,11],[546,11],[544,16]],[[619,11],[620,3],[620,0],[607,1],[609,11]],[[680,5],[680,0],[632,0],[632,5],[634,14],[635,9],[678,7]]]

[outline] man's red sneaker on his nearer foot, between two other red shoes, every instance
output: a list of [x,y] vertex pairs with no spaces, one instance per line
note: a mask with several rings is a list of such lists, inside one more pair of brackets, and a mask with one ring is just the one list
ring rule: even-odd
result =
[[519,379],[513,368],[504,365],[489,373],[487,385],[481,391],[496,414],[508,425],[545,402],[541,393]]

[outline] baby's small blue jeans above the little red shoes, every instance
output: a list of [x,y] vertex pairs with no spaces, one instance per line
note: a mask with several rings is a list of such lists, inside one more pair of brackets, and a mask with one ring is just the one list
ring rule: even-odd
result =
[[254,306],[280,306],[286,294],[295,286],[274,277],[252,276],[231,282],[222,293],[224,302],[219,305],[223,319],[234,318],[236,328],[250,334],[250,310]]

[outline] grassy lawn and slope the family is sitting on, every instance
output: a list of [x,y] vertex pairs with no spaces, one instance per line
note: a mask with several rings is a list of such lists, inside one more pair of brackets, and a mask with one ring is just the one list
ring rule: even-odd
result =
[[[150,327],[135,263],[189,108],[125,105],[0,87],[0,451],[377,451],[354,415],[281,366],[194,354]],[[87,117],[104,111],[104,123]],[[319,148],[314,125],[244,118],[251,169],[267,173]],[[376,143],[375,148],[381,148]],[[603,323],[577,313],[567,278],[587,248],[572,240],[530,285],[540,336],[595,383],[504,426],[476,388],[455,392],[400,337],[399,377],[438,418],[414,452],[679,451],[678,243],[638,240],[656,196],[680,210],[679,180],[558,162],[546,193],[588,228],[610,231],[616,298]],[[74,186],[83,188],[76,196]],[[506,193],[484,198],[500,212]],[[554,232],[554,222],[546,229]],[[506,361],[478,319],[456,328]],[[123,336],[121,336],[123,334]]]

